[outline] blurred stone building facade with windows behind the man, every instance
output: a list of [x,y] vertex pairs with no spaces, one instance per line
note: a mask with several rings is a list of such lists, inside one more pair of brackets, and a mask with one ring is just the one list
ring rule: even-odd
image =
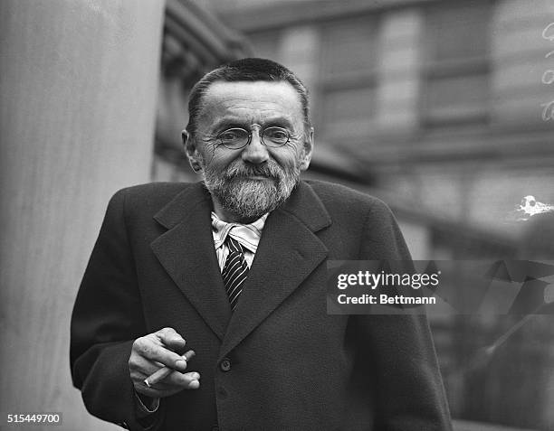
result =
[[[387,201],[414,258],[538,258],[512,211],[527,195],[554,202],[552,22],[548,0],[168,1],[152,178],[197,179],[179,142],[187,91],[256,55],[310,89],[308,176]],[[454,417],[554,428],[549,317],[478,369],[479,349],[518,316],[433,322]]]

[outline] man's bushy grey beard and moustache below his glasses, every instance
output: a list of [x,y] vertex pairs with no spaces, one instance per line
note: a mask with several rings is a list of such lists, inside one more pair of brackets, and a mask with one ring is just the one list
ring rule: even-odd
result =
[[[253,175],[263,175],[272,181],[249,180]],[[207,190],[225,211],[238,220],[251,222],[288,199],[300,181],[300,168],[295,164],[285,171],[275,162],[263,167],[233,164],[222,174],[205,166],[204,180]]]

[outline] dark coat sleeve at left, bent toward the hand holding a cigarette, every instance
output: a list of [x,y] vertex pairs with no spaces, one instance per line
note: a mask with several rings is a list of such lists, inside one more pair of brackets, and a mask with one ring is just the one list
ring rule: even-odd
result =
[[[124,207],[125,192],[117,192],[108,205],[73,308],[70,362],[73,385],[81,389],[92,415],[142,430],[128,362],[132,343],[146,334],[146,328]],[[162,415],[160,405],[148,429],[156,429]]]

